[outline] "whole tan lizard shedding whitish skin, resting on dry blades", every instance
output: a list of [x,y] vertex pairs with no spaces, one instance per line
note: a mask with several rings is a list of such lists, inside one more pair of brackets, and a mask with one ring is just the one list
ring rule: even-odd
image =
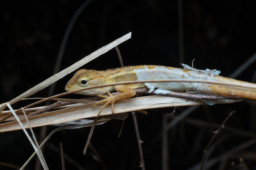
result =
[[[127,66],[116,69],[108,69],[105,71],[96,71],[90,69],[80,69],[67,82],[66,91],[83,89],[84,87],[93,87],[97,85],[106,85],[122,81],[147,81],[147,80],[169,80],[169,79],[191,79],[191,80],[216,80],[229,83],[243,83],[248,85],[256,85],[246,81],[235,80],[224,76],[219,76],[220,71],[216,69],[195,69],[186,64],[182,64],[183,69],[177,67],[141,65]],[[216,85],[211,83],[198,82],[163,82],[163,83],[134,83],[101,87],[97,89],[83,90],[77,94],[86,96],[99,96],[105,99],[98,101],[93,106],[106,103],[100,109],[100,112],[109,104],[111,104],[112,113],[114,113],[114,104],[116,101],[129,99],[136,95],[134,89],[147,87],[149,92],[154,90],[155,94],[167,94],[169,92],[198,92],[206,94],[217,94],[220,96],[242,97],[245,99],[256,100],[256,91],[252,89],[244,89],[239,87],[228,87],[225,85]],[[121,92],[112,96],[110,92]],[[108,94],[109,96],[103,96]]]

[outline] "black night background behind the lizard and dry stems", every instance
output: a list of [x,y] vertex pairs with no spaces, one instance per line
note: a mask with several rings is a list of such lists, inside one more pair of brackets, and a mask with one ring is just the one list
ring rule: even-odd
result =
[[[67,25],[84,1],[1,1],[0,3],[0,96],[1,103],[10,101],[25,90],[52,75],[56,56]],[[219,69],[228,76],[255,53],[256,13],[255,1],[183,1],[184,63],[198,69]],[[61,69],[107,43],[132,32],[132,38],[119,46],[125,66],[159,64],[180,67],[179,27],[177,1],[92,1],[76,20],[61,63]],[[119,67],[115,50],[86,64],[84,68],[109,69]],[[253,81],[255,63],[237,77]],[[58,81],[54,94],[64,92],[71,74]],[[47,96],[47,90],[35,96]],[[241,102],[215,106],[201,106],[188,118],[172,128],[168,135],[169,169],[189,169],[198,164],[205,146],[216,127],[230,111],[237,112],[227,126],[254,134],[254,103]],[[15,105],[19,107],[20,105]],[[168,122],[186,108],[180,107]],[[161,132],[163,114],[173,108],[148,110],[148,115],[138,114],[146,169],[162,167],[161,139],[152,144]],[[186,120],[198,118],[208,126],[191,125]],[[124,124],[122,136],[118,131],[122,122],[113,120],[96,128],[92,149],[86,156],[82,150],[89,129],[61,131],[54,134],[45,147],[45,160],[50,169],[61,169],[60,142],[65,154],[67,169],[77,169],[70,158],[84,169],[140,169],[138,146],[132,118]],[[54,127],[48,128],[48,133]],[[251,138],[236,134],[238,131],[221,132],[216,139],[210,158],[220,157]],[[35,129],[39,134],[40,129]],[[221,140],[223,139],[223,140]],[[152,145],[151,145],[152,144]],[[21,166],[33,152],[22,131],[7,132],[0,136],[0,162]],[[239,158],[244,163],[239,162]],[[255,145],[244,148],[221,159],[211,169],[256,169]],[[225,162],[226,161],[226,162]],[[0,169],[8,169],[0,167]],[[27,169],[35,169],[35,159]],[[221,169],[221,168],[220,168]]]

